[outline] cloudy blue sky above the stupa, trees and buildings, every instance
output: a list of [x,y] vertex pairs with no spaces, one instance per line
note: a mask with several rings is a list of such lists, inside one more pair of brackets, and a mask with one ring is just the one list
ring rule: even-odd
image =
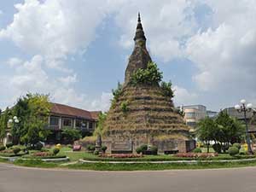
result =
[[176,106],[256,106],[255,0],[1,0],[0,108],[32,92],[108,111],[138,11]]

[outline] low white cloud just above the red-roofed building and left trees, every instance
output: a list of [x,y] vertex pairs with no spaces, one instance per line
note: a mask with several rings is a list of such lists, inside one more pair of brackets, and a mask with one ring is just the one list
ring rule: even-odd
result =
[[[15,58],[20,61],[19,58]],[[52,102],[60,102],[87,110],[108,110],[111,94],[103,92],[101,96],[90,98],[84,93],[78,93],[73,84],[76,74],[51,78],[45,71],[45,61],[41,55],[35,55],[31,61],[20,62],[13,66],[15,74],[12,77],[1,77],[0,86],[6,90],[1,108],[11,106],[18,96],[27,92],[50,94]],[[3,104],[4,103],[4,104]]]

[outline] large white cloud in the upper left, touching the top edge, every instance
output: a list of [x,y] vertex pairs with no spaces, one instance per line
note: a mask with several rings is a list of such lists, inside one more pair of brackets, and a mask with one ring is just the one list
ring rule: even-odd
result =
[[26,0],[16,4],[14,20],[0,31],[32,55],[42,55],[49,67],[65,69],[63,61],[96,38],[105,14],[103,0]]

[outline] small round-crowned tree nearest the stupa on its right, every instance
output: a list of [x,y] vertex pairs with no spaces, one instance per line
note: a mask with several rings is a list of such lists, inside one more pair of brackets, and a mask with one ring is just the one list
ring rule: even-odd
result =
[[201,141],[207,143],[207,153],[209,153],[209,144],[210,141],[216,140],[218,125],[214,122],[213,119],[207,117],[198,123],[195,132]]

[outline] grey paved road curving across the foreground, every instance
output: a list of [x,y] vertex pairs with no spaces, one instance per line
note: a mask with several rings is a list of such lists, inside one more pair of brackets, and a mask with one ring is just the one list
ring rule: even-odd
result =
[[253,192],[256,167],[163,172],[44,170],[0,164],[0,192]]

